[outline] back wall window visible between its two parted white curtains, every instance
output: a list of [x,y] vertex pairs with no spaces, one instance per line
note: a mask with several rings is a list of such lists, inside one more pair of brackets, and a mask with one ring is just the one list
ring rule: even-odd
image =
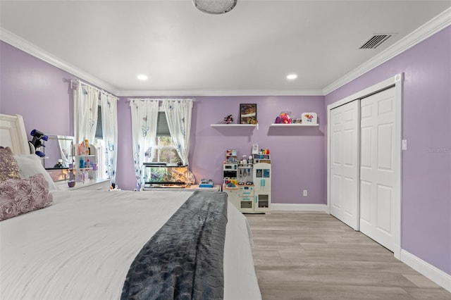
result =
[[156,125],[156,141],[153,163],[181,164],[177,149],[169,132],[168,121],[164,111],[159,111]]

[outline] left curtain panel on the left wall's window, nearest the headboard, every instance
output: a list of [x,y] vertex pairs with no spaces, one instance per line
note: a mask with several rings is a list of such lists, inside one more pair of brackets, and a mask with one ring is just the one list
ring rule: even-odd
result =
[[80,144],[83,139],[88,139],[89,143],[94,140],[98,103],[99,89],[79,83],[73,90],[75,144]]

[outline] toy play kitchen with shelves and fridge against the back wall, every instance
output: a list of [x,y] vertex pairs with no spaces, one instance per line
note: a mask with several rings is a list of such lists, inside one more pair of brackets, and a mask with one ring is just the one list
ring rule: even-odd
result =
[[238,159],[235,149],[226,151],[223,162],[223,192],[242,213],[271,211],[271,156],[268,149],[252,146],[249,156]]

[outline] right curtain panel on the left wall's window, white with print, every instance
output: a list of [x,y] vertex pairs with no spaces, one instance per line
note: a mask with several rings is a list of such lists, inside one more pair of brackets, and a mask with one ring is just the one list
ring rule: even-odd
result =
[[116,185],[118,158],[118,99],[110,94],[100,95],[101,130],[105,144],[105,166],[112,184]]

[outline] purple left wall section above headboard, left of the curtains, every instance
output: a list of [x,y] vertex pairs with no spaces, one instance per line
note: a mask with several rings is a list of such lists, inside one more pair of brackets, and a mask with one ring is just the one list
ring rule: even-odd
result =
[[[23,115],[30,134],[73,135],[73,75],[0,41],[0,113]],[[29,139],[31,137],[29,136]]]

